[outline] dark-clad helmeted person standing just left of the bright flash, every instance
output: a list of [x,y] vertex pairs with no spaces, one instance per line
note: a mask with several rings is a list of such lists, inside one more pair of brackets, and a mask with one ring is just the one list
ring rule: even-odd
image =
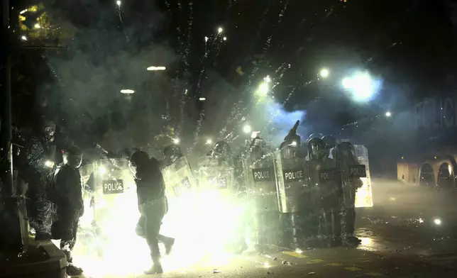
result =
[[84,214],[82,180],[79,167],[82,152],[76,146],[63,152],[63,163],[57,166],[50,189],[50,200],[57,205],[57,221],[53,223],[52,235],[60,239],[60,249],[67,257],[67,275],[82,274],[82,269],[73,265],[72,250],[75,247],[79,218]]

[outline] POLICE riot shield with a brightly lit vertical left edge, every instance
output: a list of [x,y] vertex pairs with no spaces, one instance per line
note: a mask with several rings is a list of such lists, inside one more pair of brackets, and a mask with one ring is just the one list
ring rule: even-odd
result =
[[296,213],[312,206],[312,189],[305,158],[288,156],[287,151],[284,148],[275,152],[277,200],[280,212]]

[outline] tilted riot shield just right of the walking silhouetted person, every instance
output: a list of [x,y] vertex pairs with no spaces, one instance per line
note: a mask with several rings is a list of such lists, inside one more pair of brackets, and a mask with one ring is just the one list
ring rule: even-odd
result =
[[162,169],[162,175],[168,199],[180,197],[197,188],[186,157],[181,157],[172,165]]

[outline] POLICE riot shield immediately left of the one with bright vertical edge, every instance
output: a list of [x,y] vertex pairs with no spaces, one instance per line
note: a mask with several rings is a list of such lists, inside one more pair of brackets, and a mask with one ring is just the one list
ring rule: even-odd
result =
[[253,201],[254,210],[278,211],[275,166],[272,155],[254,160],[246,156],[243,159],[244,179],[248,199]]

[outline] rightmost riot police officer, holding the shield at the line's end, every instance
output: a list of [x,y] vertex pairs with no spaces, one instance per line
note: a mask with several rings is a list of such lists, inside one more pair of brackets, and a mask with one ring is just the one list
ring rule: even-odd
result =
[[354,235],[356,222],[356,191],[363,183],[358,177],[351,177],[349,167],[358,165],[353,145],[342,142],[336,146],[336,164],[341,172],[342,209],[343,209],[343,243],[357,245],[360,240]]

